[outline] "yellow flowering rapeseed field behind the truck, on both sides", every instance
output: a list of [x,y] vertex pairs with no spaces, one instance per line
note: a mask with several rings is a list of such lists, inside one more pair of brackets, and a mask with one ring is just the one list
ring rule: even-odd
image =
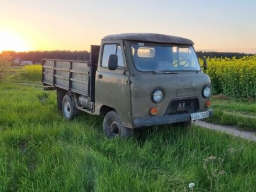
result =
[[[207,58],[213,94],[224,94],[235,98],[256,98],[256,55],[243,58]],[[200,59],[200,63],[202,60]],[[30,80],[41,80],[42,66],[23,68],[23,74]]]

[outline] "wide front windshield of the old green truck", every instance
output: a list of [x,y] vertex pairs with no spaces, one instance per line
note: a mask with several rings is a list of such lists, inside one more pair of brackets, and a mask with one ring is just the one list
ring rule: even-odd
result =
[[159,45],[132,43],[131,54],[136,68],[142,72],[200,71],[191,45]]

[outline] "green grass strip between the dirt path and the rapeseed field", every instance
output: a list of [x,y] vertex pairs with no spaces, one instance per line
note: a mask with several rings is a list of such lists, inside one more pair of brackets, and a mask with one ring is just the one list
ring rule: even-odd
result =
[[230,125],[239,129],[256,130],[256,102],[238,99],[213,99],[211,107],[214,116],[204,119],[207,122]]

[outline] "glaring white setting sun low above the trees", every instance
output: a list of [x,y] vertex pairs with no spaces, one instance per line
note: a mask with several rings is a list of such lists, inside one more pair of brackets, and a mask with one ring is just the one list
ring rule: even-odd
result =
[[2,51],[28,51],[29,45],[19,35],[8,31],[0,31],[0,52]]

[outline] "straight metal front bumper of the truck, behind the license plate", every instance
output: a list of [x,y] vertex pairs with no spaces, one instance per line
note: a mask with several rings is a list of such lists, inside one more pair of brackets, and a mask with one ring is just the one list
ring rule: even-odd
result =
[[[212,109],[208,110],[209,117],[214,115]],[[165,125],[179,122],[186,122],[191,120],[190,113],[183,113],[177,115],[165,115],[165,116],[152,116],[150,118],[138,118],[134,119],[134,127],[144,127],[153,125]]]

